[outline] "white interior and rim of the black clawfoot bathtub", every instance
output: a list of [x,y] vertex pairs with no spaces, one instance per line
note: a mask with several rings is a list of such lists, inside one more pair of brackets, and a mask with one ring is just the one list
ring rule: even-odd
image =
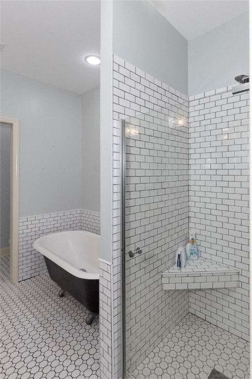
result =
[[99,279],[100,235],[98,234],[84,230],[61,231],[38,238],[32,246],[78,278]]

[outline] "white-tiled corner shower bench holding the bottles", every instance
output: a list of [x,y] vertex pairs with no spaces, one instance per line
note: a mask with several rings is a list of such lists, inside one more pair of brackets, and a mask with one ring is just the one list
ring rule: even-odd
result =
[[179,270],[173,265],[162,272],[163,290],[206,289],[239,287],[239,271],[236,268],[198,258],[186,261]]

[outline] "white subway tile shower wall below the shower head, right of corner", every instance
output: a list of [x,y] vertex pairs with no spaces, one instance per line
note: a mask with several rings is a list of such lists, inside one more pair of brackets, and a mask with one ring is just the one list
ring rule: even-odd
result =
[[189,291],[189,311],[248,341],[249,93],[189,100],[189,227],[201,257],[240,271],[239,288]]

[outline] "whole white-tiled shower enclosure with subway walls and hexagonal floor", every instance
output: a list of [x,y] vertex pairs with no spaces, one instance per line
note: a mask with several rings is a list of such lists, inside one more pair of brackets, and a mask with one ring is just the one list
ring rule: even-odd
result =
[[[118,120],[124,119],[126,376],[208,378],[219,369],[228,378],[249,378],[249,93],[233,95],[229,86],[188,98],[115,55],[113,85],[112,332],[104,346],[113,359],[101,357],[101,372],[114,377],[122,368]],[[221,272],[211,271],[212,278],[193,274],[186,286],[164,290],[162,272],[175,264],[175,252],[188,242],[191,227],[200,259]],[[128,251],[137,247],[143,253],[130,259]],[[198,340],[191,335],[183,348],[177,346],[186,356],[174,353],[166,362],[169,344],[174,346],[169,338],[176,339],[174,333],[182,338],[178,329],[187,333],[190,322]],[[205,338],[218,346],[198,348],[193,357],[190,345],[203,346]],[[206,362],[204,369],[197,360]]]

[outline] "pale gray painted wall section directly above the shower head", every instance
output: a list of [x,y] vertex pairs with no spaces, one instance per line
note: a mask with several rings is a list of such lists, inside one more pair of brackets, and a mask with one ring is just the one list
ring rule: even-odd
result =
[[188,42],[189,95],[235,83],[249,74],[249,13]]

